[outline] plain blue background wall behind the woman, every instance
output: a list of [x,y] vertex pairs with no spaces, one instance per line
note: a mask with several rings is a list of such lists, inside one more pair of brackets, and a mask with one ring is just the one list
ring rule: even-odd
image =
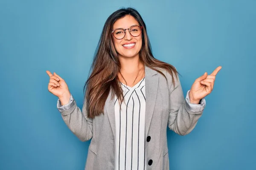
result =
[[90,141],[65,125],[46,70],[81,108],[105,20],[122,6],[140,12],[184,94],[222,66],[195,129],[168,131],[170,169],[255,170],[255,0],[0,0],[0,170],[84,169]]

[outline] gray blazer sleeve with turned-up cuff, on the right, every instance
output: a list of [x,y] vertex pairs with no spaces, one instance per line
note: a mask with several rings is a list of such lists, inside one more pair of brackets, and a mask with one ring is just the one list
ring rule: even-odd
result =
[[168,126],[179,135],[186,135],[190,133],[202,116],[204,107],[206,105],[205,99],[201,99],[199,104],[192,104],[189,102],[189,91],[186,93],[186,99],[183,96],[183,90],[180,84],[179,77],[173,74],[175,79],[175,86],[172,83],[172,76],[167,73],[169,82],[169,119]]

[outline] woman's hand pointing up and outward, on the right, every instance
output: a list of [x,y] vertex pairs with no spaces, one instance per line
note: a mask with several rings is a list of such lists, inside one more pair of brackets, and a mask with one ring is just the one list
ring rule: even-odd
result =
[[210,94],[213,89],[216,74],[221,70],[221,66],[218,66],[212,74],[207,76],[207,72],[203,76],[199,77],[193,83],[189,91],[190,103],[199,104],[199,101],[205,96]]

